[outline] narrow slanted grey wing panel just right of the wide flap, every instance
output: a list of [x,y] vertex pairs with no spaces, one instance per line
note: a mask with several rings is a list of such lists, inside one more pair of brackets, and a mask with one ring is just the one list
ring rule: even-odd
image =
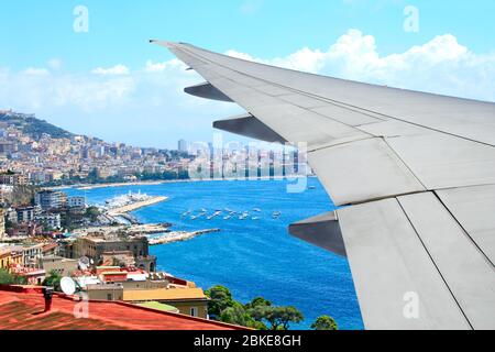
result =
[[398,198],[474,329],[495,327],[495,271],[433,193]]

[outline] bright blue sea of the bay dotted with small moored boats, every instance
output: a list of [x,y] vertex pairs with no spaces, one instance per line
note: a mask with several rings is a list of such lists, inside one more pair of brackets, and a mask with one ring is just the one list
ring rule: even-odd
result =
[[[66,189],[85,195],[89,204],[128,194],[167,196],[169,200],[133,215],[142,222],[170,222],[173,230],[220,228],[187,242],[151,248],[158,270],[195,282],[207,289],[224,285],[234,298],[246,302],[263,296],[274,305],[295,306],[305,321],[292,329],[309,329],[321,315],[332,316],[341,329],[363,329],[360,308],[345,258],[290,237],[290,223],[334,209],[317,178],[308,179],[304,193],[287,193],[288,180],[194,182],[153,186],[108,187],[91,190]],[[222,216],[212,220],[190,217],[187,210],[209,215],[217,209],[250,211],[239,220]],[[254,212],[260,208],[262,212]],[[274,211],[282,212],[273,219]],[[252,217],[258,217],[253,220]]]

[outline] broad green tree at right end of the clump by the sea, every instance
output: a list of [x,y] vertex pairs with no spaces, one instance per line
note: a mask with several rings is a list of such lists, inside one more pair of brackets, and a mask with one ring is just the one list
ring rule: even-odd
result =
[[250,310],[256,321],[266,321],[270,330],[288,330],[292,322],[301,322],[302,314],[295,307],[256,306]]

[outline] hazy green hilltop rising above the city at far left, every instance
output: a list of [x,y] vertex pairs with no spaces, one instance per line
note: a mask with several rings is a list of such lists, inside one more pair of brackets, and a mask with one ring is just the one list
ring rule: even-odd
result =
[[23,133],[38,140],[43,133],[53,139],[69,139],[74,134],[53,125],[44,120],[36,119],[34,114],[18,113],[13,111],[0,111],[0,123],[15,125]]

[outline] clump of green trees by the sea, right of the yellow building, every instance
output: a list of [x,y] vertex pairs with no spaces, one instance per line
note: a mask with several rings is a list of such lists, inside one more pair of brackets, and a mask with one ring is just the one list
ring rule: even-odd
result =
[[208,314],[223,322],[258,330],[288,330],[290,323],[304,320],[297,308],[273,306],[263,297],[242,305],[232,298],[232,294],[224,286],[213,286],[206,290],[206,295],[211,299]]

